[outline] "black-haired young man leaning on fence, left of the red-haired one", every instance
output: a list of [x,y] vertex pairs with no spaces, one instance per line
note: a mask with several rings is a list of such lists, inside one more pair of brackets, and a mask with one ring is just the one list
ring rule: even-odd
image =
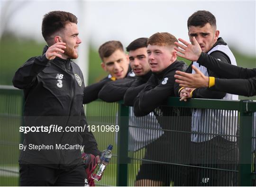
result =
[[[130,67],[136,76],[133,79],[127,77],[107,83],[101,89],[99,98],[106,102],[117,102],[124,99],[126,105],[133,106],[137,94],[144,88],[152,74],[147,59],[147,40],[147,38],[138,38],[126,48],[129,52]],[[162,134],[163,131],[153,112],[144,117],[137,118],[134,116],[133,107],[129,108],[129,151],[135,153],[144,147],[150,149],[151,143],[162,136]],[[147,154],[150,153],[152,154],[153,152],[147,152]],[[136,156],[137,154],[133,155]],[[153,168],[152,164],[151,168]],[[148,165],[142,163],[136,177],[135,186],[161,186],[165,182],[164,180],[154,178],[153,173],[147,169]],[[154,168],[154,173],[158,172],[161,172],[161,170]]]

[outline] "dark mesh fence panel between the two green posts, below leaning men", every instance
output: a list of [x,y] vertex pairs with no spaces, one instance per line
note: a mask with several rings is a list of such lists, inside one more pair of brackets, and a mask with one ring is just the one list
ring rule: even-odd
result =
[[237,111],[162,106],[129,119],[138,124],[129,123],[129,147],[139,150],[129,153],[128,185],[237,185]]

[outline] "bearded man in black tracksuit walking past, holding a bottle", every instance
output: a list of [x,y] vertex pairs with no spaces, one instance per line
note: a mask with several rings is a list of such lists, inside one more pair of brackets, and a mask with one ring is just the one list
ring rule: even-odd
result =
[[100,155],[86,127],[82,71],[71,60],[81,43],[76,24],[69,12],[46,14],[42,34],[49,48],[28,59],[13,78],[13,85],[24,90],[25,125],[31,127],[19,157],[21,186],[84,186],[81,148]]

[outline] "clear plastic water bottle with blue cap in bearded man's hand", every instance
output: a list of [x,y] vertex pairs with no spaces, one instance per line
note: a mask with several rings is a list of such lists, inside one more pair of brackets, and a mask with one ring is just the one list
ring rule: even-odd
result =
[[97,168],[91,174],[91,178],[94,180],[100,181],[103,175],[104,170],[106,169],[108,163],[110,162],[110,158],[112,156],[111,150],[113,145],[109,145],[107,150],[102,151],[101,153],[101,163],[98,164]]

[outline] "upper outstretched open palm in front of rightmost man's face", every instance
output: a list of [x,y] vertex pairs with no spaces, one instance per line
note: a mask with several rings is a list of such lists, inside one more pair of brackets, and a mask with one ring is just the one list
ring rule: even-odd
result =
[[192,38],[192,44],[186,42],[181,38],[179,38],[179,41],[182,42],[184,45],[179,42],[174,42],[179,47],[174,47],[174,50],[180,52],[177,53],[177,55],[184,59],[197,61],[201,55],[202,50],[199,43],[196,41],[195,37],[193,36]]

